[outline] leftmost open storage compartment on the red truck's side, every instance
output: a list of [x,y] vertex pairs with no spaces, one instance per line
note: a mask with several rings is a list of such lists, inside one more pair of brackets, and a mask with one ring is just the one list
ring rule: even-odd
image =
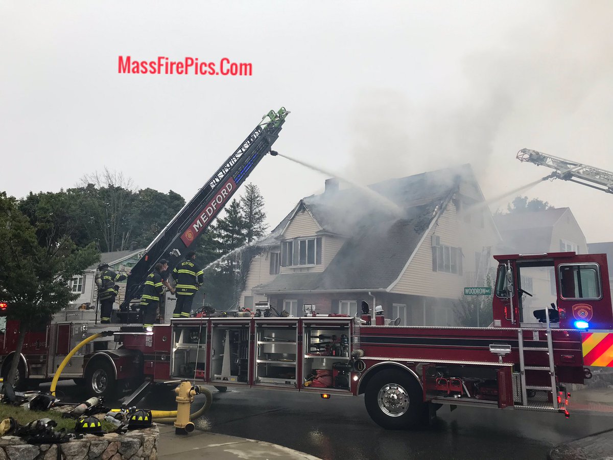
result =
[[205,380],[207,326],[173,326],[172,377]]

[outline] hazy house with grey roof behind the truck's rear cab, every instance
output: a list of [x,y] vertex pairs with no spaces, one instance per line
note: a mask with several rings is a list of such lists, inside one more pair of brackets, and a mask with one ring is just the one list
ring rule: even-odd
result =
[[[503,237],[500,254],[533,254],[574,251],[587,254],[581,227],[569,208],[512,212],[496,215],[494,221]],[[522,267],[520,288],[531,294],[522,297],[522,324],[536,323],[534,310],[557,301],[554,267]]]

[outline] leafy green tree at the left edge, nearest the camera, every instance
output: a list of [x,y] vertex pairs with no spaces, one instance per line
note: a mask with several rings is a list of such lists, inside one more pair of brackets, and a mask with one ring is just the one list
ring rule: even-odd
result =
[[[8,304],[8,318],[20,321],[16,356],[32,326],[45,323],[77,297],[69,287],[72,277],[99,259],[94,243],[77,248],[66,229],[54,222],[48,209],[61,204],[46,198],[36,206],[28,204],[28,217],[15,198],[0,193],[0,298]],[[18,363],[12,360],[9,381]]]

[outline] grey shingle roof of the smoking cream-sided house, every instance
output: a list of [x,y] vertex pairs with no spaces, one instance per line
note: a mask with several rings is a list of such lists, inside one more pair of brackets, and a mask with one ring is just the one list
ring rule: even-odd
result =
[[[441,205],[457,190],[460,178],[474,180],[469,166],[370,186],[400,210],[394,210],[381,198],[364,196],[355,188],[305,197],[301,205],[325,231],[348,239],[324,272],[281,274],[254,290],[272,293],[387,288],[402,272]],[[287,217],[284,222],[289,222]]]

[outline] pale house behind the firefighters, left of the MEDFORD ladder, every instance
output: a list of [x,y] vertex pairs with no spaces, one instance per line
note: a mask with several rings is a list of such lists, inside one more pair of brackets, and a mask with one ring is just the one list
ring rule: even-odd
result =
[[[96,304],[97,289],[94,278],[99,264],[107,263],[110,269],[115,272],[128,271],[135,266],[144,254],[145,249],[103,252],[99,262],[88,267],[83,274],[75,276],[70,281],[72,292],[80,294],[78,299],[72,302],[73,307],[78,307],[81,304]],[[120,293],[116,298],[116,303],[123,301],[126,291],[126,282],[118,283],[118,285],[120,285]]]

